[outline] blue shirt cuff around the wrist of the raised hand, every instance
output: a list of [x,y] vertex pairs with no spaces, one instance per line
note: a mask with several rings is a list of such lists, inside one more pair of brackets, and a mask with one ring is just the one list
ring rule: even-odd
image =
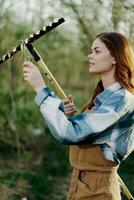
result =
[[37,93],[35,97],[36,104],[40,106],[48,96],[55,96],[55,93],[51,88],[45,87]]

